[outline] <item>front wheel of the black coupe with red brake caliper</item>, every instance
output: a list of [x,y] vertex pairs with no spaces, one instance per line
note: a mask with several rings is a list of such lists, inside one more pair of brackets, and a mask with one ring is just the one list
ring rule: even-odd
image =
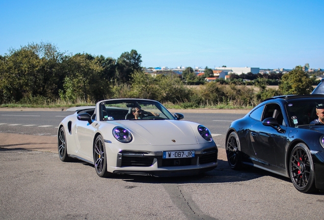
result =
[[290,179],[294,187],[302,193],[315,190],[314,164],[309,149],[305,144],[297,144],[290,154]]

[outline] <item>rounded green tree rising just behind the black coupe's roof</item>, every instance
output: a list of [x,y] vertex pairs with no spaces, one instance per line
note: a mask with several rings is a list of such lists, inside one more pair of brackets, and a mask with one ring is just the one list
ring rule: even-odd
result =
[[312,80],[301,66],[296,66],[289,73],[283,74],[279,90],[283,95],[310,94],[313,91]]

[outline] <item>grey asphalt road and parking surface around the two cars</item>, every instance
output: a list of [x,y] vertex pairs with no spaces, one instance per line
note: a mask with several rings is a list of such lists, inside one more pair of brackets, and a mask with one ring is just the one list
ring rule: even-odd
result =
[[[0,112],[0,132],[53,136],[64,114],[68,113]],[[242,115],[185,113],[184,116],[185,120],[207,126],[222,147],[221,137],[230,121]],[[93,166],[78,160],[62,162],[57,153],[0,148],[0,219],[323,219],[323,216],[324,194],[299,193],[289,179],[258,169],[233,171],[225,159],[219,159],[218,168],[200,176],[99,178]]]

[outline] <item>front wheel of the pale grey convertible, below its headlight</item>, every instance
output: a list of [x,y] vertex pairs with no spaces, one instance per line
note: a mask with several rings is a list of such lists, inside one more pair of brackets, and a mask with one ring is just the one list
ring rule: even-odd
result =
[[107,158],[104,141],[101,135],[98,135],[93,146],[93,159],[96,173],[99,177],[107,177],[110,175],[107,172]]

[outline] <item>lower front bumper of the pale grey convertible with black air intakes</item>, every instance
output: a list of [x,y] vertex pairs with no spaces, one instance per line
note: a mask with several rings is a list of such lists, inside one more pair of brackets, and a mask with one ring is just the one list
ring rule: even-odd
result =
[[163,159],[161,153],[152,155],[145,151],[122,150],[117,156],[117,166],[107,166],[107,171],[156,177],[198,175],[216,168],[217,157],[215,145],[203,149],[192,158]]

